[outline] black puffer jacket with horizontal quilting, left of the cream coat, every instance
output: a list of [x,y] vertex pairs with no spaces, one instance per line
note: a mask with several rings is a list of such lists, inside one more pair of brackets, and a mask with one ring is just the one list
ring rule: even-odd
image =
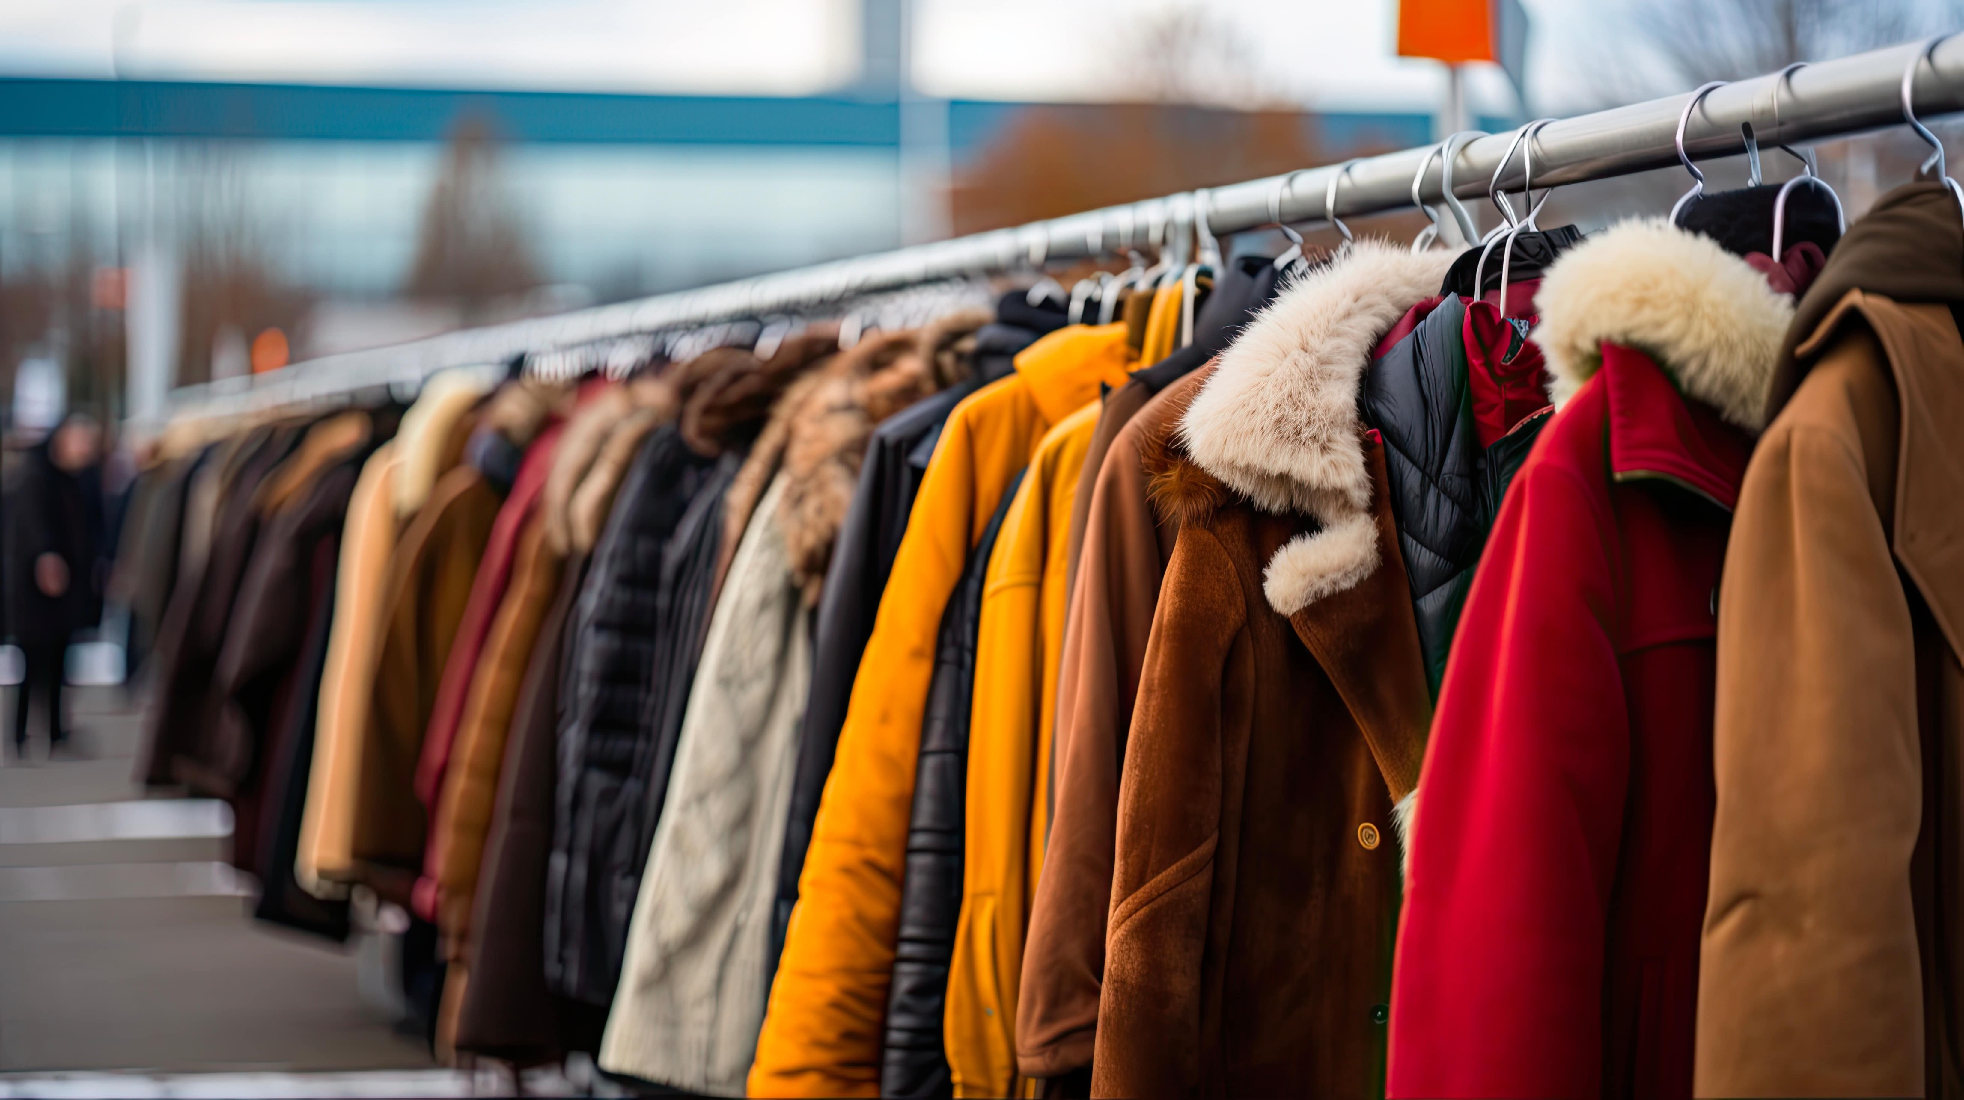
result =
[[634,906],[634,890],[621,894],[613,868],[630,858],[646,817],[638,764],[658,680],[654,623],[664,550],[715,468],[717,460],[689,450],[674,424],[648,436],[593,546],[568,627],[546,870],[546,980],[572,1000],[613,1000],[627,911]]

